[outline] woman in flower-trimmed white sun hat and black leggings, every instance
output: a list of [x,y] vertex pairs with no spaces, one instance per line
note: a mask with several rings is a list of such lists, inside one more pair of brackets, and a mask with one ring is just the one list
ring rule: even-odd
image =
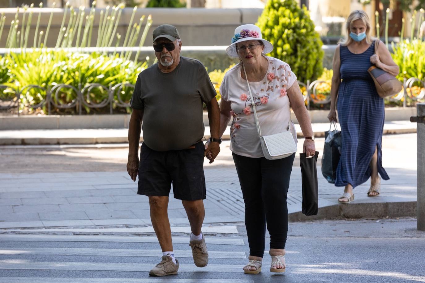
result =
[[[220,136],[232,118],[230,128],[233,160],[245,202],[245,225],[249,242],[248,274],[261,272],[266,240],[266,224],[270,233],[271,272],[284,272],[285,243],[288,234],[286,198],[295,153],[275,160],[264,157],[258,136],[248,85],[258,114],[261,134],[270,135],[289,130],[297,142],[291,110],[305,136],[303,152],[315,153],[309,113],[297,83],[297,77],[285,62],[265,56],[273,45],[264,40],[256,25],[235,29],[232,44],[226,51],[241,62],[230,69],[221,83]],[[246,71],[246,75],[244,72]]]

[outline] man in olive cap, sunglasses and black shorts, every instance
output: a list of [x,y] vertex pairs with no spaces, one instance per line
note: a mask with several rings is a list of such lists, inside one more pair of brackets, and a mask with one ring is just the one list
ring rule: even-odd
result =
[[[215,89],[201,62],[180,56],[181,40],[173,25],[153,31],[153,49],[158,63],[137,77],[131,98],[128,129],[127,171],[133,181],[139,175],[137,193],[149,196],[150,219],[163,255],[150,276],[176,274],[167,206],[170,186],[180,199],[192,233],[190,246],[196,266],[208,263],[201,226],[205,209],[204,156],[210,163],[220,152],[220,113]],[[210,141],[205,146],[203,102],[210,121]],[[138,144],[143,120],[140,162]]]

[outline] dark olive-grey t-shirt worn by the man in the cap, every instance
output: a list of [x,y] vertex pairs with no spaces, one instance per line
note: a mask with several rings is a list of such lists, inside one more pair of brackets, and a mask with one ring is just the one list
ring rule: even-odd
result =
[[204,65],[180,57],[176,69],[162,73],[158,63],[137,77],[131,107],[144,110],[143,141],[157,151],[182,150],[204,136],[203,102],[216,95]]

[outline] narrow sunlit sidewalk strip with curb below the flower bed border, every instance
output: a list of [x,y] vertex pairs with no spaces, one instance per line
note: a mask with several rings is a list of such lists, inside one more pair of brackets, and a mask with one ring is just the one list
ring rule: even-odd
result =
[[[339,127],[339,125],[338,125]],[[301,128],[295,124],[297,136],[302,137]],[[329,123],[313,123],[314,136],[322,137],[329,130]],[[223,139],[230,139],[230,127]],[[384,124],[384,134],[416,133],[416,123],[389,121]],[[205,127],[205,138],[210,136],[210,127]],[[140,141],[143,141],[143,133]],[[0,145],[12,144],[96,144],[128,142],[128,129],[68,129],[68,130],[0,130]]]

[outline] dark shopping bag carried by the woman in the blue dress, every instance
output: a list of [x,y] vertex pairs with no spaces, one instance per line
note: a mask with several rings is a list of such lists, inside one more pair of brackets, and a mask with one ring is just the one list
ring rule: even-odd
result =
[[[334,130],[331,131],[332,125],[334,125]],[[321,167],[323,177],[331,184],[334,184],[337,179],[337,166],[340,162],[342,143],[341,131],[337,129],[335,122],[331,122],[329,131],[325,132]]]

